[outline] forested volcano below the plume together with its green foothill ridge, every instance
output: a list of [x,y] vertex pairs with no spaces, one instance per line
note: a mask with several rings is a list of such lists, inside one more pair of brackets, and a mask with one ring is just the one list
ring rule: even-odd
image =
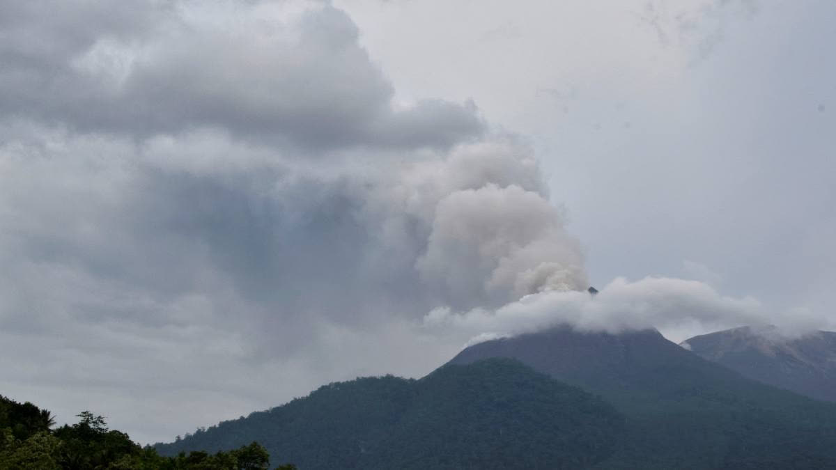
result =
[[655,330],[559,327],[462,350],[421,380],[323,386],[164,455],[261,442],[300,468],[836,468],[836,405]]

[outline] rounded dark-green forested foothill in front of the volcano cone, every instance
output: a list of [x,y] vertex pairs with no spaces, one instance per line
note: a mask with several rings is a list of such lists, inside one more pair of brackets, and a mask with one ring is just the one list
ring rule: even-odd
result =
[[320,387],[171,444],[173,455],[263,442],[301,468],[579,468],[613,452],[623,418],[573,386],[507,359]]

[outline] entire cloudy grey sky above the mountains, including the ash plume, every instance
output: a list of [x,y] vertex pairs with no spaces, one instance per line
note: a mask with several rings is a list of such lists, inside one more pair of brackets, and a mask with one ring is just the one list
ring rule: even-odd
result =
[[170,441],[563,322],[836,328],[831,2],[0,11],[0,393],[59,422]]

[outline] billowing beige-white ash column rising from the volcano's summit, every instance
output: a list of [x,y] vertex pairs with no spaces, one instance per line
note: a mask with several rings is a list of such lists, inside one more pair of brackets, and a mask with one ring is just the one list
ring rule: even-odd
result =
[[437,304],[497,307],[587,287],[580,243],[548,202],[525,146],[505,139],[461,146],[408,167],[395,193],[393,209],[403,213],[391,217],[421,226],[414,267]]

